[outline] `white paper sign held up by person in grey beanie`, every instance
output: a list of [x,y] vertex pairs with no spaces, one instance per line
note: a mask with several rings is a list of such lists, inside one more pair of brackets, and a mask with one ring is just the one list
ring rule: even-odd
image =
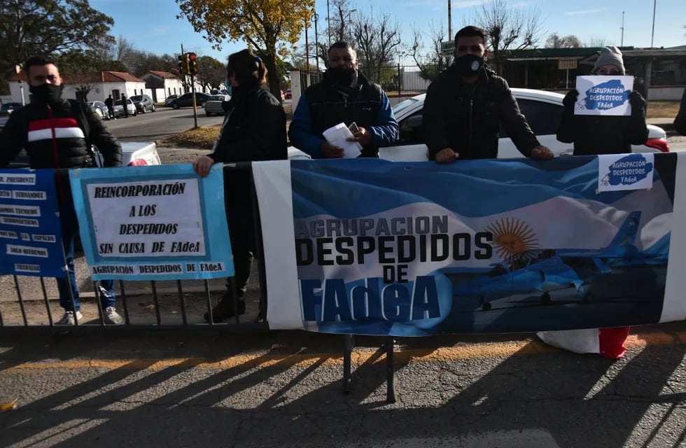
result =
[[575,115],[631,115],[633,76],[577,76]]

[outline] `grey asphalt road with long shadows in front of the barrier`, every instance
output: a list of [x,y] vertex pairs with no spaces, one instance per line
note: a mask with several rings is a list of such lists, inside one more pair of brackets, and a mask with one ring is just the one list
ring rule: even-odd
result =
[[632,336],[622,360],[531,335],[395,344],[305,332],[0,333],[3,447],[680,447],[686,325]]

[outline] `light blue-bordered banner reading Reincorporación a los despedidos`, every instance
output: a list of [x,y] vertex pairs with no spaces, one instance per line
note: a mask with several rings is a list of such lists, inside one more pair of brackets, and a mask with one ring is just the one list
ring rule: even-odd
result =
[[221,165],[70,172],[83,251],[93,279],[232,276]]

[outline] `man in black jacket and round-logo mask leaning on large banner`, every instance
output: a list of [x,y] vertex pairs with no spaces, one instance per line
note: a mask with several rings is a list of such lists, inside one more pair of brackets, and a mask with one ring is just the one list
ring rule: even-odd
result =
[[500,124],[526,157],[552,159],[519,112],[507,81],[484,67],[486,35],[464,27],[455,36],[455,62],[431,83],[424,99],[423,132],[429,160],[449,163],[498,157]]

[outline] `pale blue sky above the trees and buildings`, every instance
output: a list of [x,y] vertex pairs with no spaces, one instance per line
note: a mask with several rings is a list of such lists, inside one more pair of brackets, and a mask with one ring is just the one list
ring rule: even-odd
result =
[[[451,0],[453,33],[463,25],[471,25],[470,20],[482,3],[482,0]],[[538,47],[542,47],[545,38],[552,33],[559,36],[573,34],[584,43],[604,41],[606,45],[620,45],[622,12],[624,46],[647,48],[651,41],[657,48],[686,45],[686,0],[507,0],[507,3],[512,8],[524,10],[538,8],[542,29],[545,30]],[[374,15],[382,11],[391,13],[398,20],[406,43],[412,38],[413,26],[428,33],[431,22],[442,21],[444,29],[448,28],[447,0],[351,0],[350,4],[361,13],[368,13],[372,8]],[[176,19],[180,10],[174,0],[90,0],[90,5],[113,18],[111,34],[124,36],[137,50],[178,55],[183,45],[186,52],[193,51],[225,62],[230,53],[246,48],[246,43],[238,41],[224,43],[221,50],[214,49],[202,32],[195,32],[188,20]],[[326,8],[325,0],[316,1],[320,33],[326,25]],[[308,32],[313,38],[314,24]],[[403,63],[410,62],[403,60]]]

